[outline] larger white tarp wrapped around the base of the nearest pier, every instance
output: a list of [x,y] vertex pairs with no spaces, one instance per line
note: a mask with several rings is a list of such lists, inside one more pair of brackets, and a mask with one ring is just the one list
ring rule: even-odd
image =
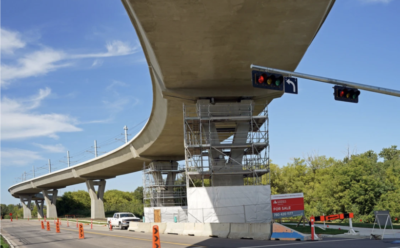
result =
[[188,222],[272,222],[269,185],[196,187],[187,194]]

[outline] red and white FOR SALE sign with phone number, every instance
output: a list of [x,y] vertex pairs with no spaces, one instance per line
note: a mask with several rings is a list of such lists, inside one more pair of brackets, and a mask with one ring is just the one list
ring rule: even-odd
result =
[[304,194],[271,195],[274,218],[304,215]]

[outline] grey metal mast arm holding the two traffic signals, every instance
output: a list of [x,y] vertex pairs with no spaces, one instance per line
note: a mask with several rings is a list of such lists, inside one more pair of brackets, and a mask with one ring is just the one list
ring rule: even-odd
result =
[[400,90],[395,90],[395,89],[385,89],[385,88],[381,88],[381,87],[376,87],[376,86],[371,86],[371,85],[363,85],[363,84],[353,83],[353,82],[339,80],[339,79],[320,77],[320,76],[314,76],[314,75],[304,74],[304,73],[299,73],[299,72],[294,72],[294,71],[284,71],[284,70],[279,70],[279,69],[274,69],[274,68],[256,66],[253,64],[250,66],[250,68],[258,69],[258,70],[266,71],[266,72],[279,73],[279,74],[282,74],[282,75],[285,75],[288,77],[300,77],[300,78],[310,79],[310,80],[319,81],[319,82],[323,82],[323,83],[340,85],[340,86],[344,86],[344,87],[354,87],[357,89],[363,89],[363,90],[367,90],[367,91],[372,91],[372,92],[377,92],[377,93],[381,93],[381,94],[400,97]]

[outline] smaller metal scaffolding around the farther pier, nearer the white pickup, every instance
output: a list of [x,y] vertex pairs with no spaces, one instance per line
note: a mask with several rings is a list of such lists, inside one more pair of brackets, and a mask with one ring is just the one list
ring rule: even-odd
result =
[[143,162],[144,207],[187,206],[184,165],[173,162]]

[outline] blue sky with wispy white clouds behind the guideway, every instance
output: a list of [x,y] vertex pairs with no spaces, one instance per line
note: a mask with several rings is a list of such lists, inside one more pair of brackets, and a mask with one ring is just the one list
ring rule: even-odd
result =
[[[400,90],[399,10],[394,0],[337,0],[296,71]],[[400,146],[400,98],[363,90],[358,104],[345,103],[332,87],[299,79],[298,95],[269,105],[274,163]],[[94,140],[100,152],[118,147],[123,126],[137,133],[151,104],[148,67],[120,1],[2,2],[1,203],[19,202],[7,189],[24,171],[31,178],[32,166],[36,175],[48,159],[64,168],[68,150],[71,161],[91,159]],[[141,183],[138,172],[107,180],[106,190]],[[79,189],[86,185],[59,195]]]

